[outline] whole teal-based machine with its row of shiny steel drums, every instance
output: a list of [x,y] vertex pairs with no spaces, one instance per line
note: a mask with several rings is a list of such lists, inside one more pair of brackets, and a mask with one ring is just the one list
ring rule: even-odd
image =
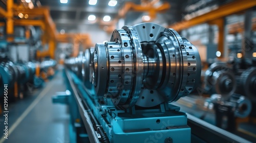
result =
[[[173,29],[124,26],[110,42],[65,64],[69,90],[53,102],[70,105],[76,142],[246,142],[172,104],[194,90],[201,75],[196,47]],[[199,138],[200,132],[205,136]]]

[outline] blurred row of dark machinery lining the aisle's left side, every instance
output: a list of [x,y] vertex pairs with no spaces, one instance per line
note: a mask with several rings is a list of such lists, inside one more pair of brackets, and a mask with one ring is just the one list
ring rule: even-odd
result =
[[[23,98],[30,88],[38,88],[44,81],[54,75],[57,62],[54,60],[33,62],[2,62],[0,65],[0,90],[8,85],[9,98]],[[13,89],[13,90],[11,90]]]

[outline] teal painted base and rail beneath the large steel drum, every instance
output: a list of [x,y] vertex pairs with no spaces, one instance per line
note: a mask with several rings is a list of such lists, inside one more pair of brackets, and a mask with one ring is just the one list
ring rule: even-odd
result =
[[[120,110],[115,107],[111,99],[97,98],[94,92],[88,91],[83,86],[82,81],[71,71],[66,70],[66,74],[70,76],[68,81],[75,87],[69,86],[71,97],[77,92],[82,97],[81,100],[86,104],[86,112],[91,112],[94,117],[81,114],[88,138],[90,134],[97,135],[96,138],[100,142],[107,139],[110,142],[190,142],[191,130],[187,126],[187,116],[180,112],[180,108],[172,104],[163,103],[159,106],[145,109],[141,107],[132,107],[126,110]],[[67,76],[67,77],[69,77]],[[74,91],[76,90],[76,91]],[[68,96],[59,96],[59,102],[67,101]],[[65,99],[65,100],[64,100]],[[70,102],[71,103],[71,102]],[[78,102],[79,103],[79,102]],[[79,113],[81,104],[72,102],[71,107],[78,107],[74,112]],[[72,113],[71,113],[72,115]],[[76,114],[77,115],[77,114]],[[90,115],[90,114],[89,114]],[[72,117],[71,117],[72,118]],[[100,126],[87,127],[94,125],[92,118],[98,122]],[[84,120],[83,120],[84,119]],[[87,123],[86,123],[87,122]],[[74,125],[74,124],[73,124]],[[103,129],[106,137],[99,135],[97,128]]]

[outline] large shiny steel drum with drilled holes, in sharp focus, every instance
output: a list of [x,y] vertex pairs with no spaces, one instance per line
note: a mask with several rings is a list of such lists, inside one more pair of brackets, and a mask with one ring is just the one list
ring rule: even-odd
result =
[[92,68],[98,96],[122,108],[153,107],[190,93],[200,79],[201,60],[196,47],[175,30],[140,23],[97,43]]

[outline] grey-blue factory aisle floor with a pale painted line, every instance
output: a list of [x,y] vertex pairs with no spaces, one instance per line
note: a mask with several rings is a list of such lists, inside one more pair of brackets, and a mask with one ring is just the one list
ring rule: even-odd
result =
[[8,139],[4,136],[4,117],[0,118],[0,143],[4,142],[56,142],[69,141],[68,106],[53,104],[55,92],[65,91],[62,70],[39,89],[32,88],[32,95],[9,103]]

